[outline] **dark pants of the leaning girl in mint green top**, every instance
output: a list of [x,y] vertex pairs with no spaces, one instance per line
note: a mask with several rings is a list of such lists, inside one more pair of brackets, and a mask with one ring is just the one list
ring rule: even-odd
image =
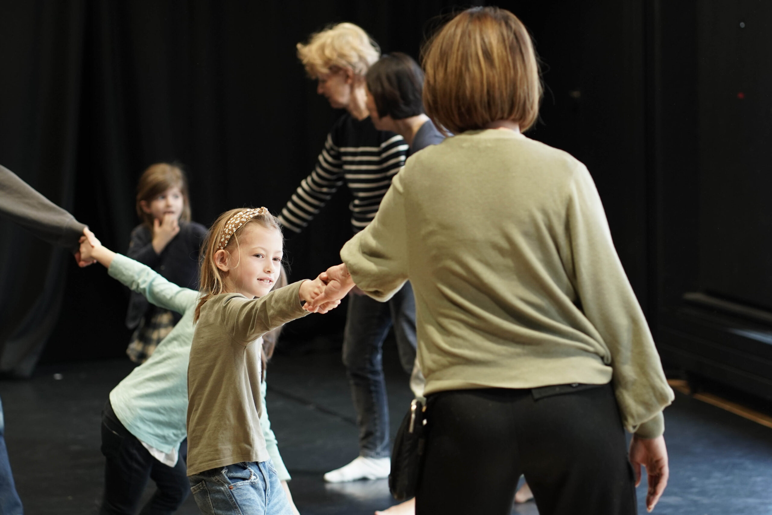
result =
[[141,515],[171,515],[190,493],[185,458],[188,442],[180,446],[176,466],[167,466],[155,459],[136,436],[120,423],[110,401],[102,412],[102,454],[104,496],[100,515],[134,515],[140,503],[147,479],[153,479],[157,490],[142,508]]

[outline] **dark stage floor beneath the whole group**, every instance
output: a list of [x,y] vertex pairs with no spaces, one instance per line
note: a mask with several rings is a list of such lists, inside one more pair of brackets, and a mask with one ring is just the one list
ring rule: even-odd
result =
[[[395,431],[411,395],[395,357],[387,354],[385,361]],[[96,513],[100,410],[130,369],[127,361],[48,365],[30,381],[0,382],[8,450],[28,515]],[[394,503],[385,479],[323,483],[324,472],[357,455],[354,410],[337,353],[277,356],[268,380],[269,413],[303,515],[365,515]],[[772,515],[772,429],[681,394],[666,420],[672,476],[655,513]],[[645,485],[639,489],[645,513],[640,494]],[[178,513],[198,510],[189,498]],[[513,513],[538,512],[527,503]]]

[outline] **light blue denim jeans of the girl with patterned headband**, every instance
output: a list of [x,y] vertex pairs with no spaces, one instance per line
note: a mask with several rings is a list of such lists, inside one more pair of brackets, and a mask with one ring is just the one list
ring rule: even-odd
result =
[[204,515],[293,515],[273,463],[239,462],[188,476]]

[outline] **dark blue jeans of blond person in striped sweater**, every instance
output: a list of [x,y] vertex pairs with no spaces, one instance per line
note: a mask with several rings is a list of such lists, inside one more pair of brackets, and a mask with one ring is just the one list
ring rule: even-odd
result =
[[394,327],[402,368],[410,374],[415,362],[415,298],[410,283],[405,283],[384,303],[366,295],[349,296],[343,362],[357,411],[359,454],[367,458],[389,456],[388,401],[382,357],[390,327]]

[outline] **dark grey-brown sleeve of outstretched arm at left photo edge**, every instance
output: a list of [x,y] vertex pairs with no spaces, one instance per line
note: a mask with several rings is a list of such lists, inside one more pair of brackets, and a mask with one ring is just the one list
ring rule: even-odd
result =
[[0,215],[22,225],[38,238],[75,252],[86,225],[49,201],[18,175],[0,166]]

